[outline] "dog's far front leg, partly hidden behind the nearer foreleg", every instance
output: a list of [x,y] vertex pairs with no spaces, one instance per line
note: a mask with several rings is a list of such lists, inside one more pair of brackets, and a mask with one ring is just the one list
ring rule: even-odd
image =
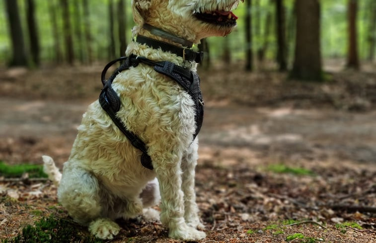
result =
[[184,192],[184,219],[192,227],[204,230],[204,225],[198,216],[195,193],[195,167],[198,159],[198,138],[190,145],[181,161],[182,190]]

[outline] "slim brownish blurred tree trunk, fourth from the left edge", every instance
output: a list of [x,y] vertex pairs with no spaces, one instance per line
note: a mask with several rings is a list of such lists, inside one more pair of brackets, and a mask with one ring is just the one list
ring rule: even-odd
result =
[[75,60],[75,52],[73,49],[71,14],[69,12],[68,0],[61,0],[61,7],[63,8],[63,25],[64,25],[64,42],[66,46],[67,61],[73,65]]

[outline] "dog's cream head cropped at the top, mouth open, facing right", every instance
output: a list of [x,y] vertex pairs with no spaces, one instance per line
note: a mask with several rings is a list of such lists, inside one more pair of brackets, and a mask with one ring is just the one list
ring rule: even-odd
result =
[[[236,26],[240,0],[132,0],[133,18],[198,43],[209,36],[226,36]],[[243,1],[243,0],[241,0]]]

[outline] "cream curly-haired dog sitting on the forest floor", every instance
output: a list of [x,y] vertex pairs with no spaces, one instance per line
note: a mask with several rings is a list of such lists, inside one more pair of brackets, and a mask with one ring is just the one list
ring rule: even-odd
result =
[[[199,43],[208,36],[226,36],[236,25],[231,12],[239,0],[133,0],[137,26],[133,38],[153,40],[184,47],[168,36],[152,34],[161,29],[187,43]],[[162,49],[133,41],[126,55],[152,61],[169,61],[196,71],[187,62]],[[98,100],[89,105],[78,127],[78,134],[63,175],[53,160],[44,156],[45,170],[59,185],[59,202],[73,219],[101,239],[119,233],[116,218],[144,215],[156,220],[159,213],[150,209],[161,201],[160,221],[169,237],[198,240],[206,237],[200,230],[194,191],[198,139],[195,133],[195,103],[175,81],[157,73],[152,66],[140,64],[121,72],[112,83],[121,99],[117,116],[148,146],[153,170],[140,163],[135,149],[114,125]],[[193,141],[193,142],[192,142]]]

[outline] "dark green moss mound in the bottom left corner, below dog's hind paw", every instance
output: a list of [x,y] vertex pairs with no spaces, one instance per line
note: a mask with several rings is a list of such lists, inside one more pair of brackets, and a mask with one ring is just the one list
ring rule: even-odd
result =
[[77,227],[67,220],[56,219],[54,216],[42,218],[35,226],[27,225],[22,233],[2,243],[103,243],[92,236],[85,236]]

